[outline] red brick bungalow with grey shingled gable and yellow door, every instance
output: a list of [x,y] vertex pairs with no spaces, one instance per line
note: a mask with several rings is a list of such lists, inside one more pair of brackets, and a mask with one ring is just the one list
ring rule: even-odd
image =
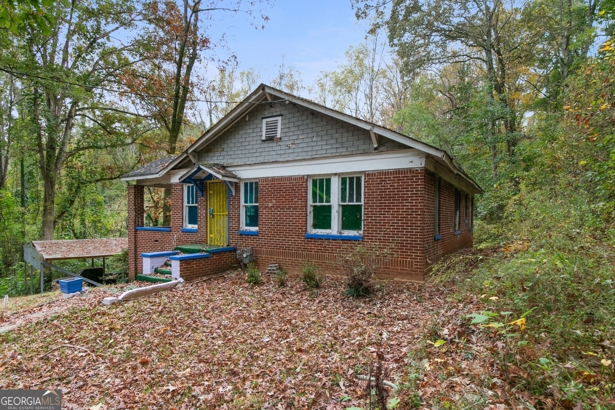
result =
[[[443,255],[472,246],[480,187],[445,151],[268,85],[185,152],[124,176],[129,272],[167,258],[186,280],[237,264],[252,247],[263,271],[306,261],[333,273],[336,253],[378,243],[381,277],[423,280]],[[169,227],[145,227],[144,187],[172,189]],[[179,254],[179,245],[207,251]]]

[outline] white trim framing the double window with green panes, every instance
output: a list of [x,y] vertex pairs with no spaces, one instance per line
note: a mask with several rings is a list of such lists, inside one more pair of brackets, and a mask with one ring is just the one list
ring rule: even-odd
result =
[[[365,175],[363,174],[331,174],[331,175],[311,175],[308,178],[308,233],[310,234],[331,234],[331,235],[362,235],[363,230],[360,231],[342,231],[341,229],[341,203],[339,198],[341,197],[341,183],[340,179],[344,176],[360,176],[361,177],[361,197],[363,205],[365,202]],[[322,203],[312,203],[312,179],[331,178],[331,229],[313,229],[312,222],[314,221],[314,213],[312,212],[312,205],[323,205]],[[357,202],[357,205],[359,203]],[[365,206],[362,206],[361,221],[363,223],[363,214],[365,213]]]

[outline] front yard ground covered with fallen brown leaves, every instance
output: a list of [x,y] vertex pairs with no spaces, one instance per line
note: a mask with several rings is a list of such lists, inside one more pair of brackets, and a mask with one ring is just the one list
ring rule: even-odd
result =
[[[0,387],[62,388],[67,409],[347,408],[365,405],[367,382],[355,375],[379,349],[400,408],[472,393],[468,358],[415,363],[433,319],[462,315],[446,290],[385,283],[359,300],[342,291],[339,278],[311,292],[298,278],[250,287],[238,275],[110,307],[100,304],[108,289],[58,296],[20,315],[68,310],[0,335]],[[450,377],[426,378],[432,366]]]

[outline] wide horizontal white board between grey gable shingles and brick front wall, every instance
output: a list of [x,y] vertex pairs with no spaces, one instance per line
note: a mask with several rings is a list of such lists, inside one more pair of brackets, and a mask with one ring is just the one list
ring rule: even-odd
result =
[[418,149],[404,149],[264,164],[229,165],[226,169],[241,179],[256,179],[423,168],[424,166],[425,154],[423,152]]

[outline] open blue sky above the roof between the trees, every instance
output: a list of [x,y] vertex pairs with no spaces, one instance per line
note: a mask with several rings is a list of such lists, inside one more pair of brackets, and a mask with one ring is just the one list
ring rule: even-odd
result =
[[255,30],[245,15],[221,13],[215,15],[212,34],[225,32],[226,44],[239,60],[238,71],[254,68],[262,82],[277,72],[284,55],[284,64],[311,85],[320,71],[335,68],[350,45],[363,42],[367,29],[366,22],[357,22],[349,0],[278,0],[264,6],[269,16],[264,30]]

